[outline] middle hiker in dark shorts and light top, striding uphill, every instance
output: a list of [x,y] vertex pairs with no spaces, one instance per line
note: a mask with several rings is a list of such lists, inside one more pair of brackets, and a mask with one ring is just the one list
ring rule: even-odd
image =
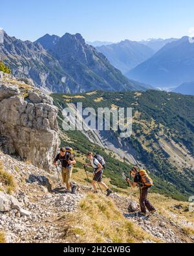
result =
[[94,188],[94,193],[98,192],[97,188],[96,188],[96,182],[98,182],[100,185],[102,185],[106,189],[107,196],[109,196],[109,194],[111,194],[112,191],[102,181],[102,174],[103,174],[102,164],[100,163],[100,161],[98,161],[98,159],[96,159],[96,157],[94,157],[92,152],[87,153],[87,158],[90,160],[90,163],[83,164],[83,166],[92,166],[94,168],[94,178],[92,180],[92,186]]

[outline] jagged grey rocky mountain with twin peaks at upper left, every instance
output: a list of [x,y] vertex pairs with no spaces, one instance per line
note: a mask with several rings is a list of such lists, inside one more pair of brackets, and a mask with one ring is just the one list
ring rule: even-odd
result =
[[78,93],[142,90],[144,84],[129,80],[105,56],[87,45],[81,34],[61,38],[46,34],[35,42],[17,40],[4,33],[0,57],[15,76],[32,78],[49,91]]

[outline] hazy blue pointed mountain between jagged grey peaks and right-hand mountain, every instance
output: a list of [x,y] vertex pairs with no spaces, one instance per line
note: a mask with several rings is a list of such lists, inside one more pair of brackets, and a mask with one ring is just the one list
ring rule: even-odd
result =
[[152,49],[136,41],[120,41],[111,45],[96,47],[102,52],[114,67],[122,73],[127,73],[136,65],[144,62],[155,53]]

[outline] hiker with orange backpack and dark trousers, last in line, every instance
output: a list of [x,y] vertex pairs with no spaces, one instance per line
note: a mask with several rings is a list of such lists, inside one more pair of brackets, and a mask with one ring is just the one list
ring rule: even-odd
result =
[[149,200],[147,200],[147,192],[148,189],[153,185],[153,181],[147,175],[146,170],[140,170],[138,167],[134,166],[130,171],[130,176],[134,178],[134,182],[131,182],[129,178],[127,178],[127,182],[131,185],[131,187],[136,187],[136,185],[140,187],[141,211],[138,212],[139,215],[146,216],[146,208],[148,209],[149,213],[155,213],[155,207],[153,207]]

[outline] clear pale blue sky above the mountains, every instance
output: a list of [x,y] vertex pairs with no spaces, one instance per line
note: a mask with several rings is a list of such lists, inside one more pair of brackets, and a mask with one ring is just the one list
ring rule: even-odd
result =
[[193,10],[193,0],[1,0],[0,27],[31,41],[65,32],[87,41],[180,38],[194,27]]

